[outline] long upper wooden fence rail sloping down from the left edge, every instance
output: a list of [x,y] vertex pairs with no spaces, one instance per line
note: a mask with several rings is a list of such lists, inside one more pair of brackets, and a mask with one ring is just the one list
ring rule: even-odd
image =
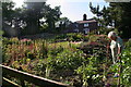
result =
[[1,64],[0,64],[0,66],[2,66],[3,73],[7,73],[8,75],[10,75],[12,77],[20,78],[21,80],[26,80],[26,82],[33,83],[40,87],[69,87],[69,85],[67,85],[67,84],[62,84],[62,83],[50,80],[50,79],[47,79],[47,78],[44,78],[40,76],[21,72],[21,71],[11,69],[9,66],[4,66]]

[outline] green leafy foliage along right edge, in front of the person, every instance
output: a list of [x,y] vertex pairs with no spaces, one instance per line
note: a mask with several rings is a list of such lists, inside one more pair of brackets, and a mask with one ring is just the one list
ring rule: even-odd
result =
[[118,72],[121,66],[121,84],[126,87],[131,86],[131,40],[126,44],[126,48],[122,51],[121,62],[118,62],[110,66],[110,71]]

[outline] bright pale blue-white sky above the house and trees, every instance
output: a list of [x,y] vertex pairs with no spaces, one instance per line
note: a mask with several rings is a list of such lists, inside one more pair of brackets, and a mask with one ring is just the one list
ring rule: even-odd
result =
[[[24,0],[12,0],[12,1],[16,3],[16,8],[21,7],[24,2]],[[104,5],[106,7],[109,5],[109,3],[104,0],[47,0],[46,1],[46,3],[50,4],[51,8],[60,5],[60,11],[62,13],[61,17],[68,17],[72,22],[82,21],[83,14],[86,14],[87,18],[92,18],[93,16],[95,16],[91,12],[88,5],[90,2],[92,2],[94,7],[97,7],[97,4],[99,4],[100,9]]]

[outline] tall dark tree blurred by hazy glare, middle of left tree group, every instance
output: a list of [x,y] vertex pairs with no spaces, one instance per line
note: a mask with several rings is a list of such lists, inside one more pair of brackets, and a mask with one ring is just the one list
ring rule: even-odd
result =
[[24,32],[26,34],[36,34],[40,28],[40,18],[45,16],[45,2],[26,2],[23,7],[22,20],[26,23]]

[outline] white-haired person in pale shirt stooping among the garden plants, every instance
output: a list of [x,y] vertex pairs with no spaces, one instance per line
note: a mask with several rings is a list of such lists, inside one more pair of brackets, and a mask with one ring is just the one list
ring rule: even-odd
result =
[[110,49],[111,49],[111,55],[112,55],[112,62],[114,64],[118,61],[120,61],[120,53],[122,51],[122,39],[117,36],[115,32],[109,32],[108,38],[111,39],[110,42]]

